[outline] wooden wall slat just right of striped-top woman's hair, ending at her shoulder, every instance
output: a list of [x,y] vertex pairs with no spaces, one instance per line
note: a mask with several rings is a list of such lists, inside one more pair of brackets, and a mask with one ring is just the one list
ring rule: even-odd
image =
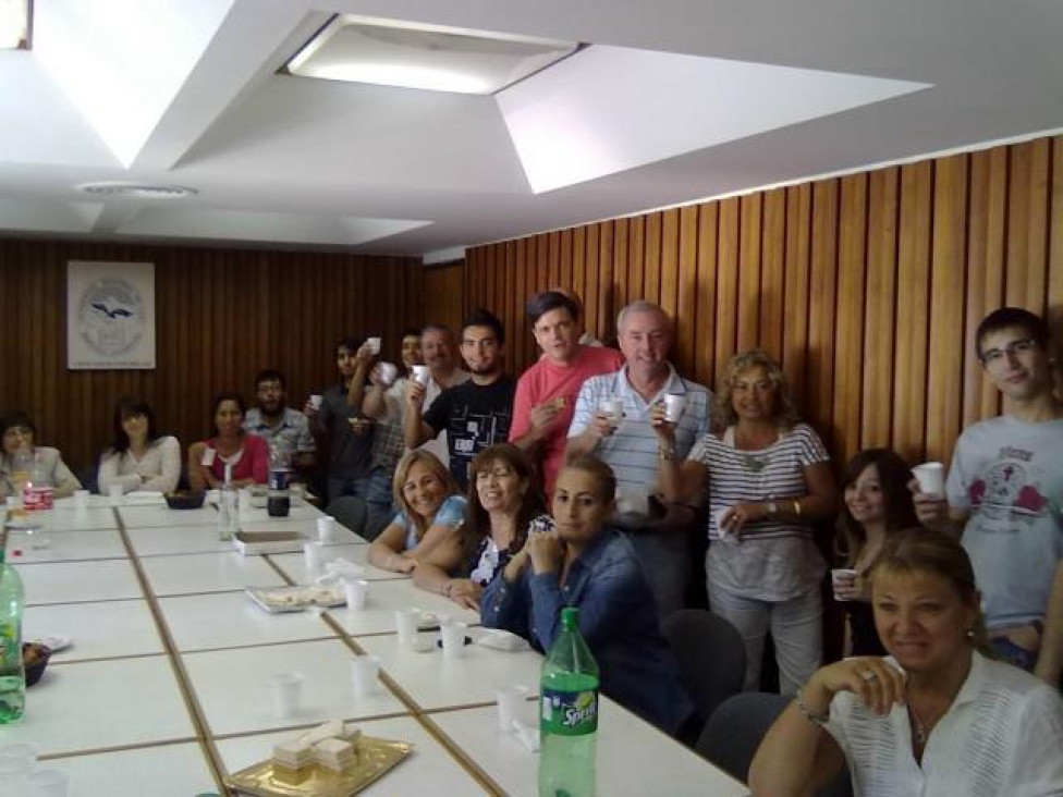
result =
[[827,444],[834,384],[834,311],[838,273],[839,181],[812,186],[808,294],[808,378],[798,407]]

